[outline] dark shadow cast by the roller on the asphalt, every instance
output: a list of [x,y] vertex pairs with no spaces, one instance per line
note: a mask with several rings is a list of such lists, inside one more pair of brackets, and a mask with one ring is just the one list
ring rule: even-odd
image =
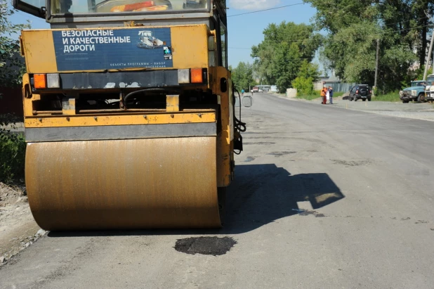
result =
[[228,188],[223,229],[50,232],[49,237],[237,234],[299,214],[298,202],[316,210],[345,198],[328,174],[291,175],[274,164],[237,165]]

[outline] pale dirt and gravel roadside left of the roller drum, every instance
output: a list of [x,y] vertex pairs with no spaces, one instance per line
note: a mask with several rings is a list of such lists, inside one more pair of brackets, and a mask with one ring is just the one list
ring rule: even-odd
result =
[[0,267],[45,233],[30,212],[25,186],[0,182]]

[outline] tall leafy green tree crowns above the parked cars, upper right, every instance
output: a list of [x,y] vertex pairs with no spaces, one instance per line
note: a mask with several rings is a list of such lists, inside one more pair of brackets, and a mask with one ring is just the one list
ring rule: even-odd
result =
[[[380,41],[381,91],[395,91],[415,75],[409,68],[423,64],[426,35],[433,14],[431,0],[305,0],[317,9],[315,29],[326,30],[320,50],[324,67],[348,82],[374,84],[376,40]],[[414,53],[414,50],[416,53]]]

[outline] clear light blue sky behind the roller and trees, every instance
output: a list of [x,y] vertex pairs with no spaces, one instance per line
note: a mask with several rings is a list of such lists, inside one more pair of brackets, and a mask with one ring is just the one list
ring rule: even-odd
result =
[[[310,23],[316,10],[309,4],[302,3],[303,0],[227,0],[229,65],[236,67],[240,61],[253,63],[250,57],[251,46],[263,41],[262,32],[270,23]],[[293,4],[296,5],[276,8]],[[251,13],[268,8],[276,9]],[[249,14],[237,15],[242,13]],[[14,23],[25,23],[26,20],[30,20],[32,29],[49,28],[44,19],[21,11],[13,15],[11,20]]]

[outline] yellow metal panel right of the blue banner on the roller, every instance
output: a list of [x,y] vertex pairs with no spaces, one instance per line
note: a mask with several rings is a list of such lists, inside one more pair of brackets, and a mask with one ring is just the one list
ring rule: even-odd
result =
[[173,68],[208,67],[206,25],[171,27]]

